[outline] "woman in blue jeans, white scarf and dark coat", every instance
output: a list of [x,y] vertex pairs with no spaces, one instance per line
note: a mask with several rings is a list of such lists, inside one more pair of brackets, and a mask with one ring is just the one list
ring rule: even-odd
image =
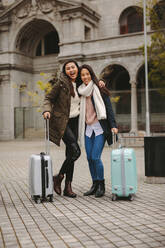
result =
[[101,197],[105,193],[104,167],[101,154],[105,141],[112,144],[112,132],[118,132],[110,102],[109,90],[98,88],[98,79],[89,65],[80,67],[82,84],[78,88],[81,95],[79,116],[79,139],[85,149],[92,177],[92,187],[85,196]]

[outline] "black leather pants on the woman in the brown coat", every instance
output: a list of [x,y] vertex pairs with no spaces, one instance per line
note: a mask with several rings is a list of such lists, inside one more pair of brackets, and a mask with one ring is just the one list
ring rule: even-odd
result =
[[81,151],[77,143],[78,139],[78,117],[70,118],[62,138],[66,145],[66,159],[60,169],[60,174],[66,174],[66,181],[72,181],[74,162],[80,157]]

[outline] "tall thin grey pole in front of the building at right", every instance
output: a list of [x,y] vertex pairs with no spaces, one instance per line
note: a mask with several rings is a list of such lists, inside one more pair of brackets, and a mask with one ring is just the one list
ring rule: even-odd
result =
[[148,60],[147,60],[147,25],[146,25],[146,0],[143,0],[144,19],[144,54],[145,54],[145,95],[146,95],[146,135],[150,136],[150,113],[148,91]]

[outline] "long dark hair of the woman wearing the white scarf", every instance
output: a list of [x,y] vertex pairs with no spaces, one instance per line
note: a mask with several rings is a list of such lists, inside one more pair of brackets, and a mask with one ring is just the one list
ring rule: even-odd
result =
[[[99,88],[101,93],[104,93],[104,94],[110,96],[110,91],[105,86],[102,87],[102,88],[99,87],[99,80],[98,80],[96,74],[94,73],[94,71],[93,71],[93,69],[92,69],[92,67],[90,65],[84,64],[84,65],[80,66],[80,78],[81,78],[82,69],[87,69],[89,71],[89,73],[91,75],[91,78],[92,78],[92,81],[97,85],[97,87]],[[81,79],[81,84],[82,83],[83,82],[82,82],[82,79]]]

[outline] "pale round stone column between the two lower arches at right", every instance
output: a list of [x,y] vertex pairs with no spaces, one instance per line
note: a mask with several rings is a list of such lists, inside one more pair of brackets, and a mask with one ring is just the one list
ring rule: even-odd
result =
[[131,133],[137,135],[138,125],[137,125],[137,87],[136,82],[131,83]]

